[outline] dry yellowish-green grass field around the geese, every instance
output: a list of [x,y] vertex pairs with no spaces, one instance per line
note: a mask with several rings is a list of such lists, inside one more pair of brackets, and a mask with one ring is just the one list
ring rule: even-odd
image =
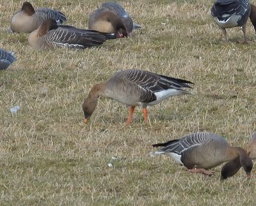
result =
[[[7,33],[23,1],[0,3],[0,48],[17,62],[0,72],[0,205],[253,205],[256,176],[243,171],[221,181],[190,174],[165,156],[150,158],[152,143],[196,131],[225,136],[246,147],[256,128],[255,43],[229,43],[211,18],[213,1],[119,1],[143,26],[132,38],[85,50],[37,51],[28,34]],[[100,1],[31,1],[63,11],[70,24],[86,27]],[[248,38],[255,32],[248,22]],[[90,88],[129,68],[184,78],[193,95],[148,108],[100,98],[88,124],[82,103]],[[12,115],[10,108],[19,105]],[[112,163],[113,166],[108,166]],[[252,173],[255,173],[255,168]]]

